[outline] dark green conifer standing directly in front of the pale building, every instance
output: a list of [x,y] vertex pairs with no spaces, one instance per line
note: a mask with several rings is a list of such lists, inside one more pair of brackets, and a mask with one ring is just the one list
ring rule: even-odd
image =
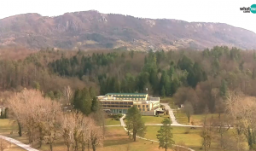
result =
[[126,129],[127,131],[131,131],[132,139],[135,142],[136,136],[144,136],[146,127],[142,119],[142,114],[137,109],[136,106],[132,106],[128,109],[128,113],[126,113]]

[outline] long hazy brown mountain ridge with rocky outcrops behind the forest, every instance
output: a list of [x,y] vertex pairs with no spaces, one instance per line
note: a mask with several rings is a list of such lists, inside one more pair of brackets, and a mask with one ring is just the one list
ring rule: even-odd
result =
[[56,17],[15,15],[0,20],[0,46],[31,49],[203,49],[214,45],[256,49],[255,42],[254,32],[222,23],[152,20],[97,11]]

